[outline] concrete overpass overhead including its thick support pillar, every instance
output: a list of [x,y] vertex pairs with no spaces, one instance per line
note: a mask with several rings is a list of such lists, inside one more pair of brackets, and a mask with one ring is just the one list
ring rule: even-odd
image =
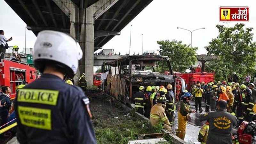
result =
[[153,0],[4,0],[35,35],[49,29],[69,33],[84,52],[75,80],[92,85],[93,52],[102,48]]

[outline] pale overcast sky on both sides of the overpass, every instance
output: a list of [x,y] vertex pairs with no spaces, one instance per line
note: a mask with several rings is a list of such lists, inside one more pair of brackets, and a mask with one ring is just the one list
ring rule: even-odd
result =
[[[194,30],[192,34],[192,46],[198,47],[198,54],[206,54],[204,46],[218,36],[216,24],[232,27],[236,22],[219,22],[220,6],[249,6],[249,22],[245,27],[254,28],[256,25],[256,5],[252,0],[153,0],[137,17],[135,17],[122,31],[120,36],[115,36],[104,49],[114,49],[116,53],[129,53],[130,28],[132,25],[131,53],[140,52],[142,49],[142,35],[144,36],[143,51],[157,50],[158,40],[181,40],[183,44],[190,44],[190,32],[180,28]],[[0,0],[0,29],[5,31],[6,38],[12,36],[10,46],[18,45],[24,47],[24,33],[26,24],[11,9],[11,7]],[[255,30],[253,30],[255,34]],[[32,31],[26,30],[26,47],[34,46],[36,36]],[[256,41],[256,36],[254,36]],[[100,50],[99,50],[100,51]],[[99,52],[98,51],[98,52]]]

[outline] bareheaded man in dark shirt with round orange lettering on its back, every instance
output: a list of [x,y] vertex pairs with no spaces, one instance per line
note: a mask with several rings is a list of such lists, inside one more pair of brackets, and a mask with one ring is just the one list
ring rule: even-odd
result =
[[232,144],[231,130],[237,124],[236,116],[226,112],[227,101],[218,101],[218,110],[199,116],[200,121],[209,121],[207,144]]

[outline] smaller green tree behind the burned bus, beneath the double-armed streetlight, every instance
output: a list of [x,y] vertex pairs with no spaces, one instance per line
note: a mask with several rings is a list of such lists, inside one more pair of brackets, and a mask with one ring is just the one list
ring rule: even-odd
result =
[[157,41],[157,44],[160,45],[160,55],[169,57],[172,70],[184,72],[189,66],[196,64],[197,47],[190,48],[189,45],[176,40]]

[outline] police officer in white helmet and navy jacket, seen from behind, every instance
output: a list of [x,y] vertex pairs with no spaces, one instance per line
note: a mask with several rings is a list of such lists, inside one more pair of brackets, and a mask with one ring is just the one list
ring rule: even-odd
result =
[[20,144],[96,144],[89,99],[81,88],[63,81],[65,75],[74,77],[82,55],[71,36],[52,30],[38,33],[33,58],[43,74],[16,95]]

